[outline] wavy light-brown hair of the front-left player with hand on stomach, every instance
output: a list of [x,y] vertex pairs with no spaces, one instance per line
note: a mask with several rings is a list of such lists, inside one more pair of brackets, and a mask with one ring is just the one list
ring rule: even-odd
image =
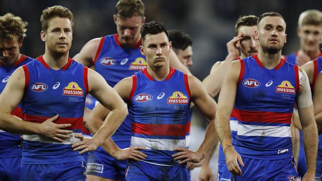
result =
[[42,15],[40,17],[40,23],[42,25],[42,31],[47,31],[49,26],[49,20],[54,17],[59,18],[68,18],[71,23],[71,28],[73,29],[74,26],[74,16],[73,13],[66,7],[61,5],[54,5],[52,7],[47,7],[43,10]]

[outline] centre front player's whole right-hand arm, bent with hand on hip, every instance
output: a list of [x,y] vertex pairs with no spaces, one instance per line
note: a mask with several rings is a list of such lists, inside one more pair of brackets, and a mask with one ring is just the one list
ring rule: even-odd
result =
[[184,159],[179,164],[201,161],[205,154],[209,152],[212,147],[215,147],[218,140],[215,133],[215,111],[216,103],[215,100],[208,95],[202,83],[193,76],[188,76],[189,88],[191,91],[192,101],[199,108],[199,110],[205,115],[208,120],[211,120],[205,135],[205,139],[198,148],[195,154],[187,151],[184,148],[175,148],[175,151],[180,151],[173,155],[174,160]]

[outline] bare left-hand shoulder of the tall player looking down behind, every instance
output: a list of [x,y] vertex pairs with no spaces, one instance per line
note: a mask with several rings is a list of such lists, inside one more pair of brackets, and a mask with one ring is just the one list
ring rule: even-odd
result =
[[100,41],[101,38],[96,38],[87,42],[73,59],[86,67],[92,67]]

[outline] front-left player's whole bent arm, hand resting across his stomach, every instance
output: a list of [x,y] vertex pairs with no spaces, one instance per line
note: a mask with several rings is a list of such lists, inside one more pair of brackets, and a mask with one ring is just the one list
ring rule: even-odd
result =
[[54,124],[53,121],[58,118],[57,115],[42,124],[38,124],[21,121],[10,114],[21,101],[24,94],[24,87],[25,73],[23,68],[20,67],[10,76],[6,87],[0,94],[0,129],[19,135],[41,134],[58,141],[62,141],[60,138],[69,138],[65,134],[72,133],[72,131],[60,129],[69,127],[70,124]]

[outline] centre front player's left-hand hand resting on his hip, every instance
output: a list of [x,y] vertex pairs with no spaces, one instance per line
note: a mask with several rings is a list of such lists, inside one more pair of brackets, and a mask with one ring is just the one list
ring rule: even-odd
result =
[[135,160],[135,161],[140,161],[144,160],[148,155],[142,153],[139,150],[146,150],[146,147],[143,146],[134,146],[134,147],[129,147],[125,149],[119,149],[115,153],[115,158],[117,160]]

